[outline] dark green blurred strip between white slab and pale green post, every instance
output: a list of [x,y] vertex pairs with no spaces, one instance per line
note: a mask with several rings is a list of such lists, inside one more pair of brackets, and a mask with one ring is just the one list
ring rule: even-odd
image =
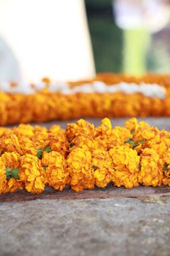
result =
[[116,26],[109,1],[86,1],[88,26],[97,72],[122,72],[122,31]]

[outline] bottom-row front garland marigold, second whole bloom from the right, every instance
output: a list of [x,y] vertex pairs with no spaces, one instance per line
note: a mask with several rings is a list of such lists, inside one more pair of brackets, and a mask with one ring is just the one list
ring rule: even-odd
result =
[[109,151],[112,158],[113,172],[112,182],[117,186],[125,186],[131,189],[138,186],[139,155],[132,148],[119,146]]

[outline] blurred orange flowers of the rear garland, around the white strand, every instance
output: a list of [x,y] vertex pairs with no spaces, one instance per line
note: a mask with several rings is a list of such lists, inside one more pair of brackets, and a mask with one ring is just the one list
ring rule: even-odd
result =
[[136,84],[156,83],[165,87],[164,99],[148,97],[140,93],[125,95],[122,92],[78,92],[65,95],[48,90],[49,79],[43,81],[47,83],[47,89],[34,94],[0,92],[0,125],[80,117],[170,116],[170,75],[145,75],[138,79],[105,73],[97,75],[93,80],[70,83],[73,87],[93,81],[103,81],[108,86],[122,81]]

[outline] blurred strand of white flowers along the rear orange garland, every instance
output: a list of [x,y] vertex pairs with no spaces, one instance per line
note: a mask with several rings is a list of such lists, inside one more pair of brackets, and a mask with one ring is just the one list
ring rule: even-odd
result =
[[[31,84],[15,84],[11,86],[10,83],[0,84],[0,91],[10,92],[10,93],[23,93],[23,94],[34,94],[37,91],[41,91],[47,88],[46,83],[34,84],[32,88]],[[140,84],[135,83],[118,83],[107,85],[101,81],[94,81],[92,84],[79,84],[70,87],[69,84],[62,82],[52,82],[48,84],[48,90],[53,92],[59,92],[61,94],[76,94],[76,93],[116,93],[121,92],[125,94],[140,93],[148,97],[156,97],[159,99],[164,99],[166,97],[166,90],[159,84],[145,84],[141,82]]]

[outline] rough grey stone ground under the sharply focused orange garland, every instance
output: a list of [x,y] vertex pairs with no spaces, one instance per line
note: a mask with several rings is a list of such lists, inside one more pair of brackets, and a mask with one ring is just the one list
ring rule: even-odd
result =
[[[170,119],[146,120],[170,130]],[[0,255],[170,255],[169,212],[167,187],[1,195]]]

